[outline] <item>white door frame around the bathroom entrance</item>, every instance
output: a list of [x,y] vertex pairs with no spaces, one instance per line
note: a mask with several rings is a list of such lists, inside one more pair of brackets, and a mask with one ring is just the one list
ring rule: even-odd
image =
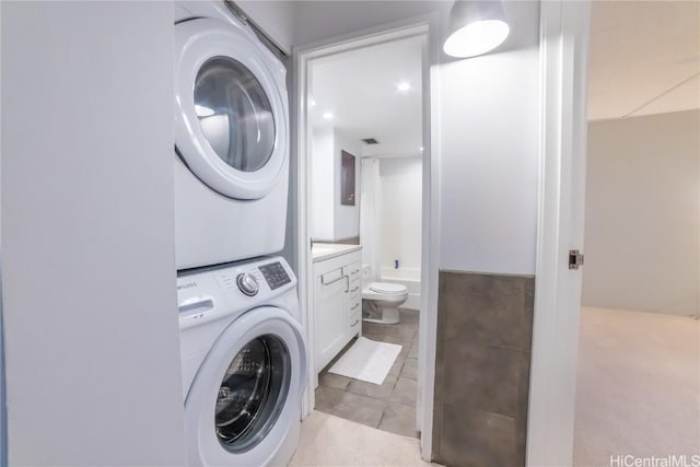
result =
[[[417,428],[429,435],[421,436],[421,456],[430,459],[432,455],[433,395],[435,380],[435,348],[438,339],[438,247],[439,247],[439,141],[431,138],[438,133],[438,69],[434,66],[440,57],[439,14],[430,13],[405,21],[385,24],[378,27],[334,37],[311,45],[292,49],[292,112],[295,127],[292,128],[292,164],[295,163],[296,180],[292,188],[292,215],[296,215],[299,224],[294,229],[292,256],[298,264],[299,295],[304,328],[308,334],[308,380],[303,398],[302,415],[306,417],[315,405],[314,397],[314,343],[313,315],[311,310],[314,293],[313,261],[311,257],[311,187],[310,148],[311,128],[307,127],[310,86],[308,66],[312,60],[341,54],[359,48],[399,40],[408,37],[424,37],[422,54],[422,238],[421,238],[421,312],[419,319],[419,385],[417,397]],[[294,189],[295,186],[295,189]]]

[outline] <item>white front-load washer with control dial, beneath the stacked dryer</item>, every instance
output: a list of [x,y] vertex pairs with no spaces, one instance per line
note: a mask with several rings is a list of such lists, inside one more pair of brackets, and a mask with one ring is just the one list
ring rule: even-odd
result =
[[281,257],[177,278],[189,465],[289,464],[306,382],[295,285]]

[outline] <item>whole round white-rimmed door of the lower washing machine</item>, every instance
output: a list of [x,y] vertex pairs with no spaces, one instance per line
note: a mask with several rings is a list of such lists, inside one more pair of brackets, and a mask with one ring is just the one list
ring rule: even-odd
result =
[[217,339],[185,400],[191,465],[266,465],[299,423],[301,326],[280,308],[245,313]]

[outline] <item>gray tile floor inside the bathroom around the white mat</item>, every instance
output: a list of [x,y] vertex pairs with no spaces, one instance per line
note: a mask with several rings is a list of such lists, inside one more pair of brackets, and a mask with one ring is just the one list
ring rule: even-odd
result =
[[418,312],[399,310],[400,323],[362,323],[368,339],[402,346],[382,385],[328,373],[340,355],[318,375],[316,410],[404,436],[416,431],[416,378],[418,373]]

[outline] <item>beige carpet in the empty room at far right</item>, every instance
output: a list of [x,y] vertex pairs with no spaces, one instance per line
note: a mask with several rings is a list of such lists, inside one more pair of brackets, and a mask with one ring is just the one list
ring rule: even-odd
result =
[[583,307],[580,339],[575,466],[700,455],[700,322]]

